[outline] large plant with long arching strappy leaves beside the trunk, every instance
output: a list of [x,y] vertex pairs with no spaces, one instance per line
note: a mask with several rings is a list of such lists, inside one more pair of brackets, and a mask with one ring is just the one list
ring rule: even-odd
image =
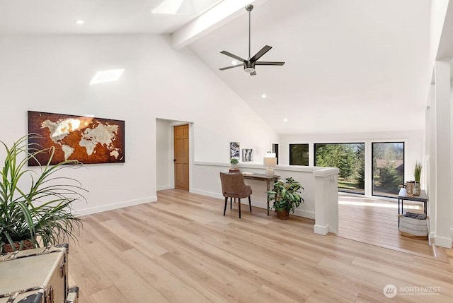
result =
[[[62,176],[63,169],[81,167],[81,162],[66,160],[50,165],[55,147],[42,148],[28,143],[38,134],[23,136],[6,150],[0,172],[0,253],[40,245],[57,244],[75,239],[81,219],[71,212],[71,203],[84,199],[80,182]],[[40,163],[39,153],[49,153],[49,160]],[[28,161],[38,167],[30,169]]]

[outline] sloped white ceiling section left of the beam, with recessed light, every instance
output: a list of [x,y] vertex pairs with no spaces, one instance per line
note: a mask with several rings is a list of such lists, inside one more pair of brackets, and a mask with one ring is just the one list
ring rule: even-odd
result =
[[[0,35],[171,33],[197,16],[153,14],[163,0],[1,0]],[[184,0],[185,2],[192,0]],[[209,8],[219,0],[193,0]],[[202,10],[200,5],[196,11]],[[76,25],[75,20],[85,20]]]

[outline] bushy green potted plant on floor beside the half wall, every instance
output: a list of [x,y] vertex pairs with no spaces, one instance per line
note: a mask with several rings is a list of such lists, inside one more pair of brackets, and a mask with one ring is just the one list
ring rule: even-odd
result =
[[304,187],[288,177],[285,180],[278,180],[275,182],[272,191],[268,191],[268,197],[275,199],[273,208],[277,213],[277,218],[287,220],[289,218],[289,211],[294,213],[294,210],[304,202],[304,198],[299,196]]

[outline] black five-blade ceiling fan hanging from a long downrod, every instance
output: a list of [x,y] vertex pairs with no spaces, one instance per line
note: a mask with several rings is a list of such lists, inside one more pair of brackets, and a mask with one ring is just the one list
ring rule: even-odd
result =
[[251,11],[253,9],[253,5],[248,4],[246,6],[246,10],[248,11],[248,59],[243,59],[239,56],[236,56],[235,54],[231,54],[231,52],[226,52],[222,51],[220,54],[225,54],[226,56],[229,56],[231,58],[234,58],[236,60],[242,61],[241,64],[236,64],[232,66],[226,66],[222,67],[222,69],[219,69],[221,71],[224,71],[225,69],[233,69],[234,67],[239,67],[243,66],[243,71],[246,73],[250,73],[250,76],[255,76],[256,71],[255,71],[255,66],[256,65],[283,65],[285,62],[270,62],[270,61],[258,61],[263,55],[267,52],[270,51],[272,47],[269,45],[265,45],[262,49],[260,49],[259,52],[257,52],[253,57],[250,55],[250,40],[251,40]]

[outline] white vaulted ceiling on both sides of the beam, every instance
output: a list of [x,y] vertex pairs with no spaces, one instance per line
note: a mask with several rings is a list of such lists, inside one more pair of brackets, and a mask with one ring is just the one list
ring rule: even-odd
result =
[[[160,2],[0,1],[0,34],[160,34],[195,18],[151,14]],[[423,129],[430,1],[257,0],[253,5],[252,55],[268,44],[273,49],[262,60],[285,66],[258,66],[257,76],[241,67],[218,70],[231,65],[222,50],[247,57],[243,8],[188,47],[278,133]],[[75,25],[79,18],[86,23]]]

